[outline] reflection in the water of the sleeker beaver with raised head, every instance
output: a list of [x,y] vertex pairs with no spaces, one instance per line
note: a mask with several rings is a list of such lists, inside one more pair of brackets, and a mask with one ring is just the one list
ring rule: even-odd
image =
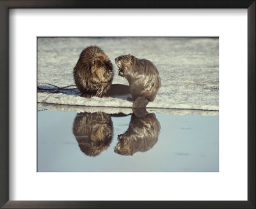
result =
[[[137,115],[137,114],[136,114]],[[150,150],[158,140],[160,123],[154,113],[145,117],[136,117],[132,113],[131,122],[124,134],[118,135],[115,152],[121,155],[133,155],[135,152]]]

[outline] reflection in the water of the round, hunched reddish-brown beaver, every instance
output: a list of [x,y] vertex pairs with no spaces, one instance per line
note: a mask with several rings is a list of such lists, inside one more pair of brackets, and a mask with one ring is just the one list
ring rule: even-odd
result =
[[104,112],[77,113],[73,133],[84,154],[97,156],[106,150],[113,138],[111,117]]

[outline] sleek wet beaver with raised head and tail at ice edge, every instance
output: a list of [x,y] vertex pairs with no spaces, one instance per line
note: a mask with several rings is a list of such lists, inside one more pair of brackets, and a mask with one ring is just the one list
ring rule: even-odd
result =
[[131,54],[115,59],[118,75],[129,82],[132,108],[145,108],[149,101],[154,101],[161,87],[161,79],[156,66],[147,59],[138,59]]

